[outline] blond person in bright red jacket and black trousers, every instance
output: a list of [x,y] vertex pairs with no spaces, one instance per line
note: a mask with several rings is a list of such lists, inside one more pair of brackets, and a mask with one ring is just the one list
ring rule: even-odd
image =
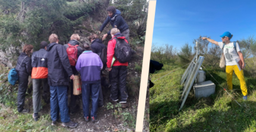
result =
[[120,30],[117,28],[113,28],[110,32],[112,39],[108,41],[108,50],[107,50],[107,67],[110,71],[110,84],[111,84],[111,95],[109,101],[112,104],[116,104],[118,101],[118,86],[119,83],[119,91],[121,101],[121,107],[126,108],[129,107],[129,104],[126,102],[128,98],[127,88],[126,88],[126,76],[127,76],[127,66],[128,62],[120,63],[117,59],[115,59],[113,66],[111,67],[111,63],[115,53],[115,44],[117,43],[114,37],[118,39],[124,39],[127,43],[126,38],[120,33]]

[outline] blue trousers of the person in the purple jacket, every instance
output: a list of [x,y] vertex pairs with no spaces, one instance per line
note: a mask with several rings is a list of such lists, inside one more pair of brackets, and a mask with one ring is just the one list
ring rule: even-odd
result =
[[99,83],[82,83],[82,98],[83,98],[83,116],[89,117],[89,102],[90,95],[92,96],[92,110],[90,111],[90,117],[97,117],[96,112],[98,110],[99,100]]

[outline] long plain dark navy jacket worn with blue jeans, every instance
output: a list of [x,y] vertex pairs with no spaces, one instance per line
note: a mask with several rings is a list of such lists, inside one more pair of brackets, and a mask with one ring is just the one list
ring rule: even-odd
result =
[[68,85],[73,75],[65,47],[58,43],[50,43],[46,47],[49,86]]

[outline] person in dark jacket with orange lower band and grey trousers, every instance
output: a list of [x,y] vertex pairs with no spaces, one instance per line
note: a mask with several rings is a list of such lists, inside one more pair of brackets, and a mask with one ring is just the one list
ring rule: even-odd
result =
[[33,82],[33,118],[38,121],[41,109],[41,96],[40,96],[40,86],[43,83],[43,92],[46,96],[47,91],[49,91],[48,85],[48,68],[47,68],[47,51],[46,46],[48,43],[42,41],[40,43],[40,50],[33,52],[32,54],[32,82]]

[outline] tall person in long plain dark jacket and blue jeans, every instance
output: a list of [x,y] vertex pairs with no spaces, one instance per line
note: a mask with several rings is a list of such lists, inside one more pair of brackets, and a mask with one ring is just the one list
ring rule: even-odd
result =
[[70,79],[74,79],[74,75],[65,47],[58,44],[58,36],[51,34],[49,41],[50,44],[48,44],[46,50],[48,51],[48,84],[51,92],[52,125],[56,125],[60,111],[62,125],[64,127],[74,128],[77,127],[78,124],[70,121],[67,107],[68,82]]

